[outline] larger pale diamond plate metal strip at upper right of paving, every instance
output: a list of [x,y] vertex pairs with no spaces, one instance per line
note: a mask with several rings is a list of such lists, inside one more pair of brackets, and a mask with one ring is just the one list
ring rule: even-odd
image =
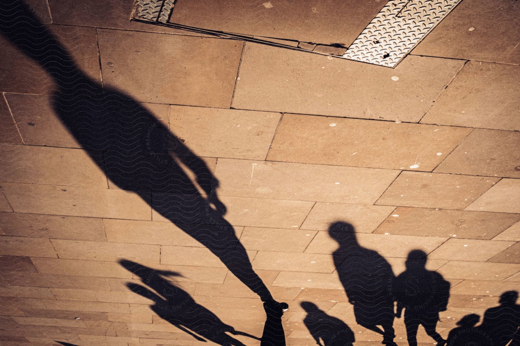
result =
[[390,0],[343,58],[395,67],[462,0]]

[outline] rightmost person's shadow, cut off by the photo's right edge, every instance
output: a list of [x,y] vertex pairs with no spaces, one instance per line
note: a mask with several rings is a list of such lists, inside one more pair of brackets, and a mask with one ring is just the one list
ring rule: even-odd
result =
[[520,345],[520,305],[516,304],[518,292],[510,290],[500,295],[500,305],[484,313],[480,329],[484,330],[495,346]]

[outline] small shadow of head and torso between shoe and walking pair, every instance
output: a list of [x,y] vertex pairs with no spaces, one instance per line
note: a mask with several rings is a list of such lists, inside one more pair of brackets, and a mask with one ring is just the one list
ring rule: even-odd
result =
[[307,312],[303,323],[318,345],[352,346],[354,332],[345,322],[329,316],[310,301],[303,301],[301,306]]

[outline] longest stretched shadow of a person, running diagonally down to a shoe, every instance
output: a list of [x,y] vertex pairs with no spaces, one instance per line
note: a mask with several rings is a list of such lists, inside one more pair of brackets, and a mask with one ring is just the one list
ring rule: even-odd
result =
[[22,1],[0,6],[0,33],[54,80],[54,112],[110,181],[137,193],[209,248],[266,309],[282,310],[286,305],[272,298],[224,219],[226,207],[215,193],[218,181],[204,161],[131,96],[86,76]]

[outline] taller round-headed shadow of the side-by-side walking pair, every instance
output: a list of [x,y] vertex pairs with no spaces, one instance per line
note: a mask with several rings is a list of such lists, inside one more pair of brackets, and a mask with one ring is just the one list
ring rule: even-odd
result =
[[332,256],[348,301],[354,306],[356,322],[383,335],[383,344],[395,346],[394,299],[388,291],[394,278],[392,267],[377,252],[359,245],[354,227],[348,223],[331,224],[329,236],[339,244]]

